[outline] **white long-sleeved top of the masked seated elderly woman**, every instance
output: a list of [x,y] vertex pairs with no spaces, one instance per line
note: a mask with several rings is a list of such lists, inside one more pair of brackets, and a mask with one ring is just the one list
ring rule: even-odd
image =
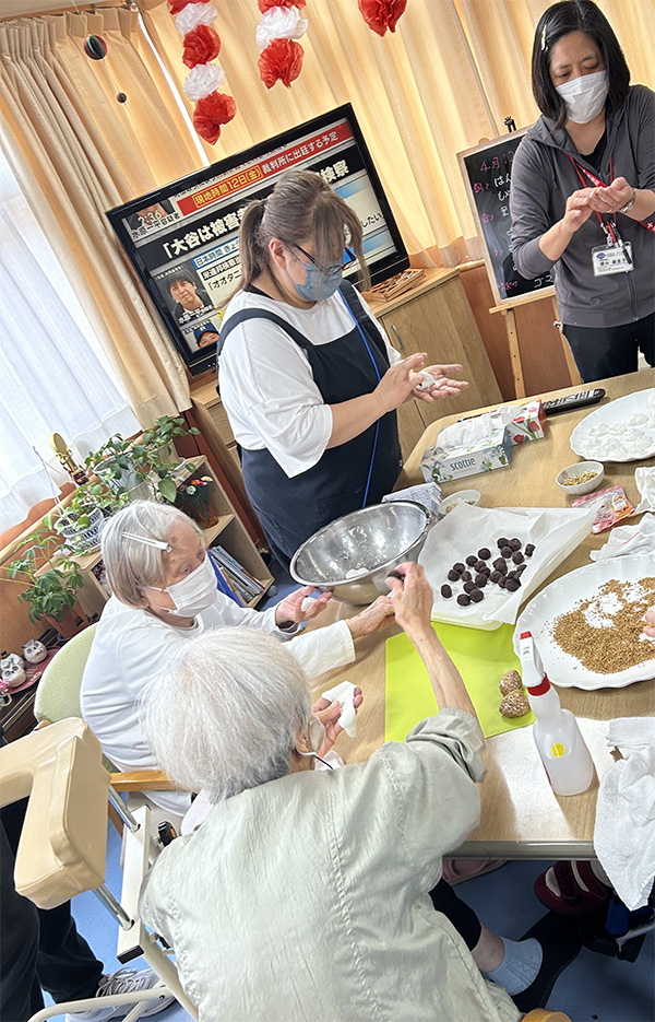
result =
[[[111,597],[86,661],[80,703],[82,716],[97,736],[103,752],[119,770],[158,768],[143,737],[139,698],[180,644],[201,632],[227,626],[259,629],[285,637],[275,626],[275,608],[260,613],[238,607],[222,592],[216,594],[213,607],[196,615],[192,629],[177,629]],[[353,636],[345,621],[298,635],[288,649],[309,678],[355,659]],[[151,791],[150,797],[158,806],[181,813],[190,803],[187,791]]]

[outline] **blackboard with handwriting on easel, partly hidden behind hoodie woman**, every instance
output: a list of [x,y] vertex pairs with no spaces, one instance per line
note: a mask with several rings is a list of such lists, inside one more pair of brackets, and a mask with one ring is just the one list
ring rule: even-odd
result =
[[457,153],[478,235],[485,243],[484,256],[489,283],[499,306],[509,305],[523,295],[534,295],[536,298],[553,293],[551,273],[526,280],[519,273],[512,256],[512,162],[526,131],[527,128],[510,131]]

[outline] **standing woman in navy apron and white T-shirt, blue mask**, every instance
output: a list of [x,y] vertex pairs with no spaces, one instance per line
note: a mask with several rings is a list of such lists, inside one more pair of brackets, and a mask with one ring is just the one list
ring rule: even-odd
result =
[[[334,518],[376,504],[401,468],[395,409],[457,395],[461,365],[402,361],[355,289],[357,214],[319,174],[290,171],[241,221],[241,282],[221,330],[221,397],[248,496],[281,563]],[[350,254],[346,252],[346,249]],[[366,277],[366,273],[365,273]],[[437,383],[417,390],[416,372]]]

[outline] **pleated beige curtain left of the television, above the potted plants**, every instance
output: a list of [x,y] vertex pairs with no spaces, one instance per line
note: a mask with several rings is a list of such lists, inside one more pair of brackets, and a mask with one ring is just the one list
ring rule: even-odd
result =
[[[107,42],[105,60],[84,55],[90,33]],[[9,162],[140,422],[175,414],[190,404],[186,372],[104,215],[200,162],[138,14],[5,22],[0,47]]]

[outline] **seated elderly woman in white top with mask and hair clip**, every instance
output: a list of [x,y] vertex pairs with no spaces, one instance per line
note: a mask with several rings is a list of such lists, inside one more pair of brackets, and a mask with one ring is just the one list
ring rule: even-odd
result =
[[[246,646],[253,630],[290,638],[330,599],[324,594],[303,610],[303,600],[312,592],[306,586],[263,613],[239,607],[217,589],[202,530],[168,504],[129,504],[107,521],[102,553],[112,596],[91,647],[81,706],[103,751],[119,770],[159,767],[143,738],[138,701],[178,649],[186,653],[189,639],[225,626],[248,629]],[[392,614],[389,598],[381,597],[356,618],[298,635],[289,649],[314,677],[354,660],[353,639],[393,621]],[[267,683],[264,671],[260,677],[264,693]],[[186,698],[184,688],[176,688],[170,709],[175,713]],[[356,705],[360,702],[359,693]],[[325,701],[320,705],[327,706]],[[176,814],[183,814],[191,803],[188,791],[150,791],[148,797]]]

